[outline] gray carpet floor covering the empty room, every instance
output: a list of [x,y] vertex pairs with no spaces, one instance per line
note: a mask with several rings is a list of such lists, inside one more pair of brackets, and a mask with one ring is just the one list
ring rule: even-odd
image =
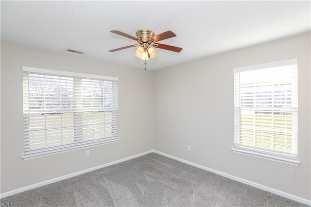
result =
[[306,207],[150,153],[1,199],[17,206]]

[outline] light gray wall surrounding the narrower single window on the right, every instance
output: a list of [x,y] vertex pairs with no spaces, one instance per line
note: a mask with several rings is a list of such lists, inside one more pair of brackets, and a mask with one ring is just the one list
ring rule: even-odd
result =
[[[156,70],[155,150],[311,200],[310,55],[307,33]],[[301,164],[233,153],[233,69],[293,58],[298,58]],[[296,177],[289,176],[290,168]]]

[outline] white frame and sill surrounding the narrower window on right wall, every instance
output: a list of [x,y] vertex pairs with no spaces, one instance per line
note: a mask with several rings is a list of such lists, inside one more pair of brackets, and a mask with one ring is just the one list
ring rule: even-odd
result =
[[[278,62],[273,62],[273,63],[267,63],[267,64],[260,64],[260,65],[255,65],[255,66],[249,66],[249,67],[242,67],[242,68],[235,68],[233,69],[234,74],[235,73],[240,73],[243,71],[250,71],[250,70],[257,70],[257,69],[268,69],[268,68],[274,68],[274,67],[279,67],[279,66],[286,66],[286,65],[296,65],[297,68],[297,74],[298,74],[298,64],[297,64],[297,59],[290,59],[290,60],[285,60],[285,61],[278,61]],[[236,80],[234,79],[234,91],[236,91],[236,87],[239,86],[240,88],[240,82],[236,83]],[[240,90],[240,89],[239,89]],[[234,92],[236,93],[236,92]],[[297,92],[298,94],[298,92]],[[237,100],[238,99],[238,100]],[[297,98],[298,99],[298,98]],[[246,145],[241,145],[240,143],[240,134],[236,127],[239,127],[240,124],[236,123],[237,119],[240,119],[236,113],[236,103],[238,102],[240,104],[240,92],[239,92],[239,98],[236,97],[236,94],[234,95],[234,105],[235,105],[235,112],[234,112],[234,145],[231,148],[232,152],[242,154],[242,155],[249,155],[249,156],[254,156],[262,159],[267,159],[267,160],[272,160],[276,162],[281,162],[285,164],[290,164],[290,165],[295,165],[298,166],[300,164],[300,161],[298,160],[298,146],[297,146],[297,154],[290,154],[290,153],[282,153],[280,151],[276,150],[268,150],[268,149],[260,149],[256,148],[253,146],[246,146]],[[254,107],[253,110],[255,110],[256,107]],[[272,107],[271,107],[272,108]],[[239,107],[239,111],[242,111]],[[269,110],[273,113],[273,109]],[[298,105],[295,110],[291,111],[293,113],[296,113],[296,118],[298,121]],[[295,133],[298,133],[298,128]],[[239,139],[239,143],[237,142],[237,139]],[[298,144],[298,136],[297,136],[297,144]]]

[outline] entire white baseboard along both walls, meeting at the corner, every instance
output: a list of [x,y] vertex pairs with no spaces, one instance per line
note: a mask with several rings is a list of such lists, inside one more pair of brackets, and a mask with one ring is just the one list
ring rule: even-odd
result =
[[283,196],[285,198],[289,198],[289,199],[292,199],[294,201],[298,201],[300,203],[303,203],[303,204],[311,206],[311,201],[310,200],[307,200],[307,199],[304,199],[304,198],[301,198],[301,197],[289,194],[287,192],[276,190],[276,189],[273,189],[273,188],[270,188],[270,187],[267,187],[267,186],[263,186],[261,184],[254,183],[252,181],[245,180],[245,179],[242,179],[240,177],[236,177],[236,176],[233,176],[233,175],[230,175],[230,174],[227,174],[227,173],[216,171],[216,170],[213,170],[211,168],[207,168],[205,166],[198,165],[196,163],[193,163],[193,162],[190,162],[190,161],[187,161],[187,160],[184,160],[184,159],[180,159],[180,158],[172,156],[172,155],[161,153],[161,152],[156,151],[156,150],[150,150],[150,151],[147,151],[147,152],[144,152],[144,153],[140,153],[140,154],[129,156],[129,157],[125,157],[123,159],[119,159],[119,160],[116,160],[116,161],[113,161],[113,162],[109,162],[109,163],[106,163],[104,165],[99,165],[99,166],[96,166],[96,167],[93,167],[93,168],[89,168],[89,169],[86,169],[86,170],[83,170],[83,171],[79,171],[79,172],[76,172],[76,173],[71,173],[71,174],[68,174],[68,175],[56,177],[56,178],[53,178],[51,180],[43,181],[43,182],[36,183],[36,184],[30,185],[30,186],[19,188],[19,189],[16,189],[16,190],[11,190],[11,191],[8,191],[8,192],[4,192],[4,193],[0,194],[0,198],[5,198],[7,196],[14,195],[14,194],[26,191],[26,190],[32,190],[32,189],[35,189],[35,188],[38,188],[38,187],[41,187],[41,186],[45,186],[45,185],[48,185],[48,184],[51,184],[51,183],[54,183],[54,182],[57,182],[57,181],[60,181],[60,180],[65,180],[65,179],[70,178],[70,177],[74,177],[74,176],[77,176],[77,175],[80,175],[80,174],[84,174],[84,173],[88,173],[88,172],[91,172],[91,171],[94,171],[94,170],[98,170],[98,169],[101,169],[101,168],[104,168],[104,167],[107,167],[107,166],[110,166],[110,165],[114,165],[114,164],[117,164],[117,163],[120,163],[120,162],[124,162],[126,160],[130,160],[130,159],[142,156],[142,155],[146,155],[146,154],[149,154],[149,153],[157,153],[159,155],[163,155],[163,156],[175,159],[177,161],[183,162],[183,163],[191,165],[193,167],[197,167],[197,168],[206,170],[206,171],[211,172],[211,173],[219,174],[221,176],[230,178],[232,180],[236,180],[236,181],[239,181],[241,183],[244,183],[244,184],[247,184],[247,185],[259,188],[261,190],[266,190],[266,191],[274,193],[276,195],[280,195],[280,196]]

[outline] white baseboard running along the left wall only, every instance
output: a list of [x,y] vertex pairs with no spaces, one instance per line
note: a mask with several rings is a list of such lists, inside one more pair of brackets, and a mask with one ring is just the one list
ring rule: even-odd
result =
[[79,172],[76,172],[76,173],[67,174],[67,175],[64,175],[64,176],[53,178],[51,180],[46,180],[46,181],[43,181],[43,182],[40,182],[40,183],[36,183],[36,184],[30,185],[30,186],[26,186],[26,187],[19,188],[19,189],[16,189],[16,190],[11,190],[11,191],[8,191],[8,192],[4,192],[4,193],[0,194],[0,198],[5,198],[7,196],[14,195],[14,194],[17,194],[17,193],[20,193],[20,192],[24,192],[26,190],[32,190],[32,189],[35,189],[35,188],[38,188],[38,187],[41,187],[41,186],[45,186],[45,185],[48,185],[48,184],[51,184],[51,183],[55,183],[57,181],[65,180],[65,179],[70,178],[70,177],[74,177],[74,176],[77,176],[77,175],[80,175],[80,174],[84,174],[84,173],[88,173],[88,172],[91,172],[91,171],[95,171],[95,170],[98,170],[98,169],[101,169],[101,168],[104,168],[104,167],[107,167],[107,166],[110,166],[110,165],[114,165],[114,164],[117,164],[117,163],[120,163],[120,162],[124,162],[124,161],[129,160],[129,159],[133,159],[133,158],[136,158],[136,157],[139,157],[139,156],[142,156],[142,155],[146,155],[146,154],[149,154],[149,153],[152,153],[152,152],[154,152],[154,151],[150,150],[150,151],[147,151],[147,152],[144,152],[144,153],[140,153],[140,154],[137,154],[137,155],[125,157],[125,158],[119,159],[117,161],[109,162],[109,163],[104,164],[104,165],[99,165],[99,166],[96,166],[96,167],[93,167],[93,168],[89,168],[89,169],[86,169],[86,170],[83,170],[83,171],[79,171]]

